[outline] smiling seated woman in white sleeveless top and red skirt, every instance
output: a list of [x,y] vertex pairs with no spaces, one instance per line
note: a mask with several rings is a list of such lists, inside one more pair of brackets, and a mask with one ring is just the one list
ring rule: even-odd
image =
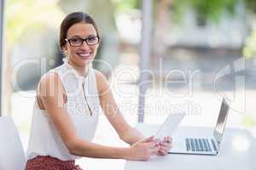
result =
[[[68,14],[61,23],[60,46],[67,54],[64,64],[41,78],[37,88],[26,170],[81,169],[74,160],[81,156],[148,160],[165,156],[171,139],[143,139],[125,122],[109,90],[107,79],[91,67],[100,37],[88,14]],[[119,138],[130,147],[92,143],[99,106]]]

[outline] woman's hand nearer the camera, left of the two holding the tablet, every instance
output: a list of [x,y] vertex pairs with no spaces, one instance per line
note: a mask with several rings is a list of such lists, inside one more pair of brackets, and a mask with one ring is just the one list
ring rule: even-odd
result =
[[151,156],[156,155],[160,150],[159,143],[160,140],[154,139],[154,136],[140,140],[131,145],[127,159],[132,161],[148,161]]

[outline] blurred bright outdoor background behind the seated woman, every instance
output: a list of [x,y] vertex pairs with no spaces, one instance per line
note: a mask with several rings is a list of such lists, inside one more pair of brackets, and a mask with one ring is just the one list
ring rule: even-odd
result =
[[[227,126],[247,128],[256,136],[256,1],[152,3],[144,122],[160,124],[178,108],[188,114],[183,125],[213,127],[221,97],[226,97],[231,104]],[[6,0],[2,115],[14,118],[25,150],[35,88],[46,71],[62,64],[59,27],[74,11],[96,20],[102,44],[94,67],[108,77],[125,119],[137,124],[141,0]],[[103,114],[94,141],[125,145]],[[125,161],[83,158],[79,164],[122,169]]]

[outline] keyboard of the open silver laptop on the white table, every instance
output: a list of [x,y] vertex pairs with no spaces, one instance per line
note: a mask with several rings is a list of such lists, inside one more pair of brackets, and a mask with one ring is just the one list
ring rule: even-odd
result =
[[212,151],[212,148],[217,151],[213,139],[185,139],[187,151]]

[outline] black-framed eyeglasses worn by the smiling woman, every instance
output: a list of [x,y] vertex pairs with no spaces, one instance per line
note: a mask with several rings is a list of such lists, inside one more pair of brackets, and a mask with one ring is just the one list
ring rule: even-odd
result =
[[96,45],[100,41],[100,37],[98,36],[90,36],[90,37],[71,37],[71,38],[65,38],[66,42],[69,42],[70,46],[72,47],[80,47],[83,45],[84,42],[87,43],[87,45]]

